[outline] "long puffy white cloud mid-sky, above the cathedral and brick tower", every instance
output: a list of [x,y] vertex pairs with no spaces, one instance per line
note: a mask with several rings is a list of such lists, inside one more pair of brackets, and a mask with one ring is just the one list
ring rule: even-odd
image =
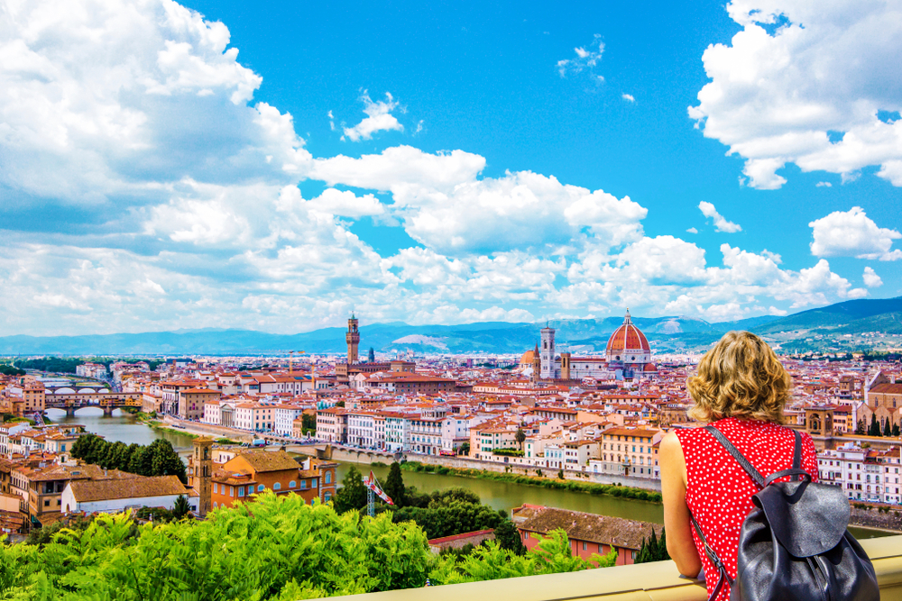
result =
[[316,161],[312,177],[390,191],[393,214],[410,236],[443,253],[548,250],[584,241],[611,247],[641,237],[648,211],[629,196],[529,171],[478,179],[484,165],[483,157],[461,150],[431,155],[401,146]]

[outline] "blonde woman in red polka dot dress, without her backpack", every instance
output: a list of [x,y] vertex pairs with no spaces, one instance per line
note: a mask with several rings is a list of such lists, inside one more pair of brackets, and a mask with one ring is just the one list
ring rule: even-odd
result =
[[[782,425],[792,380],[767,342],[750,332],[728,332],[686,386],[695,401],[689,414],[712,423],[760,473],[792,467],[796,436]],[[686,576],[695,578],[704,568],[709,596],[729,599],[730,584],[719,582],[704,542],[736,578],[740,527],[758,485],[704,428],[668,433],[659,461],[667,552]],[[807,434],[802,434],[802,469],[817,480],[815,444]]]

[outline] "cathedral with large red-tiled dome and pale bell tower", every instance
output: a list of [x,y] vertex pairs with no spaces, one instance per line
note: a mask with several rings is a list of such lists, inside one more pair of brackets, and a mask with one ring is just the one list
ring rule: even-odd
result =
[[531,355],[532,378],[535,380],[640,379],[657,378],[658,368],[651,361],[651,347],[645,334],[632,323],[629,309],[623,323],[608,339],[603,357],[574,357],[569,352],[557,354],[555,329],[544,327],[541,341]]

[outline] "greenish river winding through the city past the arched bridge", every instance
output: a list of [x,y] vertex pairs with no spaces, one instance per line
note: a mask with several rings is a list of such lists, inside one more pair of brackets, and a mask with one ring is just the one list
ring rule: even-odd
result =
[[[172,443],[176,451],[187,454],[191,447],[191,437],[162,430],[153,430],[143,423],[137,423],[133,415],[122,413],[118,410],[111,417],[104,417],[103,411],[96,408],[81,409],[75,417],[66,417],[65,412],[51,409],[48,417],[52,423],[80,423],[93,432],[106,437],[111,441],[137,442],[150,444],[157,438],[165,438]],[[344,478],[350,463],[343,463],[338,468],[338,477]],[[384,480],[388,475],[387,467],[373,467],[361,464],[358,469],[366,475],[370,469],[376,478]],[[664,510],[661,505],[621,499],[613,496],[594,496],[585,493],[577,493],[567,490],[552,490],[550,488],[529,487],[497,480],[483,480],[477,478],[460,478],[458,476],[439,476],[422,472],[404,471],[404,483],[417,487],[420,491],[431,492],[442,488],[465,487],[479,495],[486,505],[495,509],[504,509],[509,514],[513,507],[524,503],[535,505],[548,505],[573,511],[584,511],[590,514],[615,515],[633,520],[643,520],[663,524]],[[851,533],[858,538],[870,538],[883,536],[884,533],[850,528]]]

